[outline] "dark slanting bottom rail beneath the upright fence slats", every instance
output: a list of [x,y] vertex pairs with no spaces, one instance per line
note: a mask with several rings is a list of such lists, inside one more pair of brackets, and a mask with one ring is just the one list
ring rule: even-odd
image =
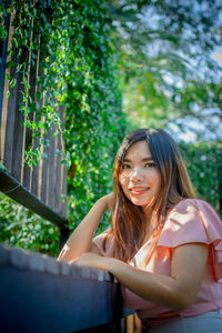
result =
[[23,185],[21,185],[11,174],[0,169],[0,191],[26,208],[32,210],[46,220],[57,225],[67,224],[67,220],[61,214],[56,213],[44,202],[37,199]]

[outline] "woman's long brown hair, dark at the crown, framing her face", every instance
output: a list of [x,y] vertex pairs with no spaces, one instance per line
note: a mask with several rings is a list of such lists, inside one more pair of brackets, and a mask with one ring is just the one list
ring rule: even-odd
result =
[[139,141],[148,142],[153,161],[160,172],[160,195],[152,206],[152,236],[160,233],[165,215],[170,209],[186,198],[195,198],[190,178],[180,150],[174,140],[162,129],[139,129],[127,135],[120,145],[114,161],[114,205],[109,235],[114,238],[114,256],[127,262],[142,245],[148,222],[141,206],[134,205],[123,193],[119,182],[122,163],[129,148]]

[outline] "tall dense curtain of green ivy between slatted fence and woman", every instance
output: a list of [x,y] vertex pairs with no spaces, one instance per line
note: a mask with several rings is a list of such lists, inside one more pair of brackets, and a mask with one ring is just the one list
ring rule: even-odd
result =
[[70,41],[65,57],[74,63],[67,75],[65,117],[71,229],[92,202],[111,190],[110,170],[125,128],[109,20],[105,11],[98,10],[99,2],[90,3],[78,3],[69,11],[68,21],[75,29],[70,24],[64,36]]

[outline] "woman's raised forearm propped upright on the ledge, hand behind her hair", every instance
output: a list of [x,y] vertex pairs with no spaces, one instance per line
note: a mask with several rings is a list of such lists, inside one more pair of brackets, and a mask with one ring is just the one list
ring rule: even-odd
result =
[[65,260],[68,262],[80,256],[82,253],[92,251],[92,238],[102,219],[104,212],[110,209],[113,194],[110,193],[99,199],[87,216],[81,221],[77,229],[61,250],[58,260]]

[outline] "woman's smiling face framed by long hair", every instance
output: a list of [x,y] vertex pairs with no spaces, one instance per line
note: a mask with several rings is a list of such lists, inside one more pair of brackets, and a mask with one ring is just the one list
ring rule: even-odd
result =
[[160,172],[145,141],[133,143],[127,151],[119,182],[133,204],[145,210],[154,203],[160,193]]

